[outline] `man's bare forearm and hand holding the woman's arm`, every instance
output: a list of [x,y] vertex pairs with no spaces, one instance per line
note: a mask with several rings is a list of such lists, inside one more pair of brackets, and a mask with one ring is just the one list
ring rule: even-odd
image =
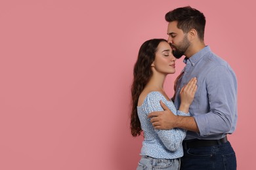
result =
[[156,129],[173,129],[179,127],[189,131],[199,132],[198,126],[192,116],[177,116],[168,109],[168,107],[160,101],[164,111],[151,112],[148,117]]

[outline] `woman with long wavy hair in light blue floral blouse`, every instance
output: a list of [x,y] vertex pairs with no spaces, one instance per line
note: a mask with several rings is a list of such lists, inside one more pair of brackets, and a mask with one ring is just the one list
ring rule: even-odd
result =
[[182,140],[186,136],[183,129],[154,129],[148,118],[150,112],[163,110],[163,101],[174,114],[189,116],[188,109],[196,93],[196,78],[192,78],[181,90],[181,107],[177,111],[173,101],[163,90],[168,74],[175,73],[175,57],[165,39],[151,39],[142,44],[135,63],[133,75],[131,134],[134,137],[144,131],[144,141],[137,170],[179,169],[183,156]]

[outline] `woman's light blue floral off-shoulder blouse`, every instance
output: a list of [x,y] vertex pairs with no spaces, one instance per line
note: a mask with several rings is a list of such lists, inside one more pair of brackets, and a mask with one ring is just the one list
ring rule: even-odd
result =
[[141,128],[144,131],[144,141],[140,155],[153,158],[175,159],[183,156],[182,140],[186,137],[183,129],[158,130],[154,129],[148,114],[154,111],[162,111],[160,100],[174,113],[180,116],[190,116],[177,111],[173,101],[167,101],[160,92],[150,92],[141,106],[137,107]]

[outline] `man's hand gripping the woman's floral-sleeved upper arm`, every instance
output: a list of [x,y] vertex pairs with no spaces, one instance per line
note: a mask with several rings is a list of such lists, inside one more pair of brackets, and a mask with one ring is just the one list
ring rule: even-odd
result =
[[177,122],[177,116],[162,101],[160,104],[163,111],[148,114],[148,117],[151,118],[150,122],[156,129],[173,129],[175,122]]

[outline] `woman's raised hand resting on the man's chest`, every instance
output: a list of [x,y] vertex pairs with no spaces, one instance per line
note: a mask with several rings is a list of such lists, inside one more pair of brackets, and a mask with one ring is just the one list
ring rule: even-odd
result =
[[186,84],[185,86],[182,87],[180,96],[181,96],[181,105],[179,110],[182,112],[188,112],[188,109],[195,97],[196,90],[198,86],[196,85],[196,77],[191,78],[191,80]]

